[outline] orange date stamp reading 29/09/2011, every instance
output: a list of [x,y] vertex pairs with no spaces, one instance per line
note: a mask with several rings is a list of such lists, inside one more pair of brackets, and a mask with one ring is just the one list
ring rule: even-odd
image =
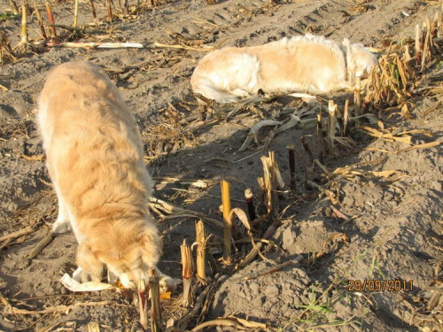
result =
[[348,280],[348,291],[412,291],[414,283],[412,280]]

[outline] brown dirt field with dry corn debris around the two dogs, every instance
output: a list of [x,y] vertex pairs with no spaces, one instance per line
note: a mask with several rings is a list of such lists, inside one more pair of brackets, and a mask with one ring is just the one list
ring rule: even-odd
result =
[[[262,232],[257,236],[280,220],[276,233],[263,242],[261,255],[245,268],[236,266],[251,250],[250,243],[237,243],[232,266],[221,266],[218,261],[219,272],[206,288],[214,292],[214,297],[206,297],[207,314],[200,320],[192,317],[188,326],[181,328],[234,315],[279,331],[443,330],[443,157],[438,145],[443,141],[441,89],[411,94],[406,100],[410,116],[401,115],[401,107],[392,104],[373,109],[381,121],[378,127],[362,122],[378,129],[384,126],[396,137],[408,135],[410,143],[386,136],[375,138],[354,128],[350,132],[354,146],[328,153],[323,159],[327,169],[323,170],[312,165],[300,143],[300,137],[305,136],[315,156],[318,154],[315,127],[292,127],[274,136],[274,127],[263,127],[261,143],[253,142],[239,151],[255,123],[263,119],[286,121],[289,114],[315,105],[302,104],[294,97],[277,97],[223,120],[221,114],[226,113],[220,105],[206,112],[190,89],[190,75],[206,48],[257,45],[310,32],[385,50],[392,41],[414,38],[416,25],[422,27],[426,18],[433,19],[442,11],[441,4],[418,0],[288,0],[276,1],[278,4],[265,0],[176,0],[159,1],[155,7],[144,3],[139,15],[123,15],[119,3],[114,1],[113,10],[118,14],[114,22],[105,23],[104,1],[95,4],[97,20],[92,18],[89,1],[81,1],[82,36],[63,36],[71,33],[58,27],[60,39],[140,42],[143,49],[46,47],[0,66],[0,84],[5,88],[0,89],[0,330],[88,331],[94,322],[102,331],[141,329],[136,307],[128,297],[112,290],[71,293],[58,281],[76,267],[74,235],[54,237],[43,251],[29,258],[57,216],[56,197],[35,127],[35,99],[51,68],[82,59],[106,69],[136,114],[148,168],[157,179],[157,198],[221,221],[220,179],[224,177],[231,184],[232,207],[246,209],[246,188],[253,189],[257,205],[257,177],[263,174],[260,157],[275,151],[285,187],[279,194],[278,213],[274,220],[257,227]],[[129,2],[129,10],[135,3]],[[0,0],[0,4],[0,12],[10,11],[9,1]],[[46,22],[43,3],[37,4]],[[56,24],[71,26],[74,2],[51,4]],[[41,42],[31,12],[29,39]],[[1,30],[15,46],[20,19],[2,16]],[[432,84],[441,88],[440,55],[434,66],[420,74],[436,78]],[[423,86],[426,84],[424,81]],[[353,103],[353,95],[341,93],[325,100],[333,98],[343,108],[346,98]],[[431,143],[431,147],[416,148],[424,143]],[[295,191],[289,190],[289,144],[295,144],[297,151]],[[345,166],[351,166],[354,173],[333,173]],[[312,186],[305,188],[305,174],[322,186],[330,180],[330,195]],[[187,179],[205,180],[210,186],[195,188],[183,181]],[[183,238],[189,243],[195,240],[198,218],[190,213],[152,214],[165,243],[159,268],[181,278],[180,245]],[[19,230],[24,233],[14,235]],[[206,231],[214,234],[211,250],[214,258],[220,259],[222,229],[206,223]],[[244,278],[267,267],[289,264],[286,262],[299,255],[303,255],[300,264]],[[364,280],[373,281],[368,287],[381,284],[385,290],[357,291],[358,282]],[[196,295],[203,289],[196,290]],[[179,287],[171,299],[162,300],[165,322],[174,319],[176,324],[183,323],[190,309],[181,306],[181,297]],[[214,329],[245,326],[229,324]],[[260,329],[252,326],[248,330],[254,328]]]

